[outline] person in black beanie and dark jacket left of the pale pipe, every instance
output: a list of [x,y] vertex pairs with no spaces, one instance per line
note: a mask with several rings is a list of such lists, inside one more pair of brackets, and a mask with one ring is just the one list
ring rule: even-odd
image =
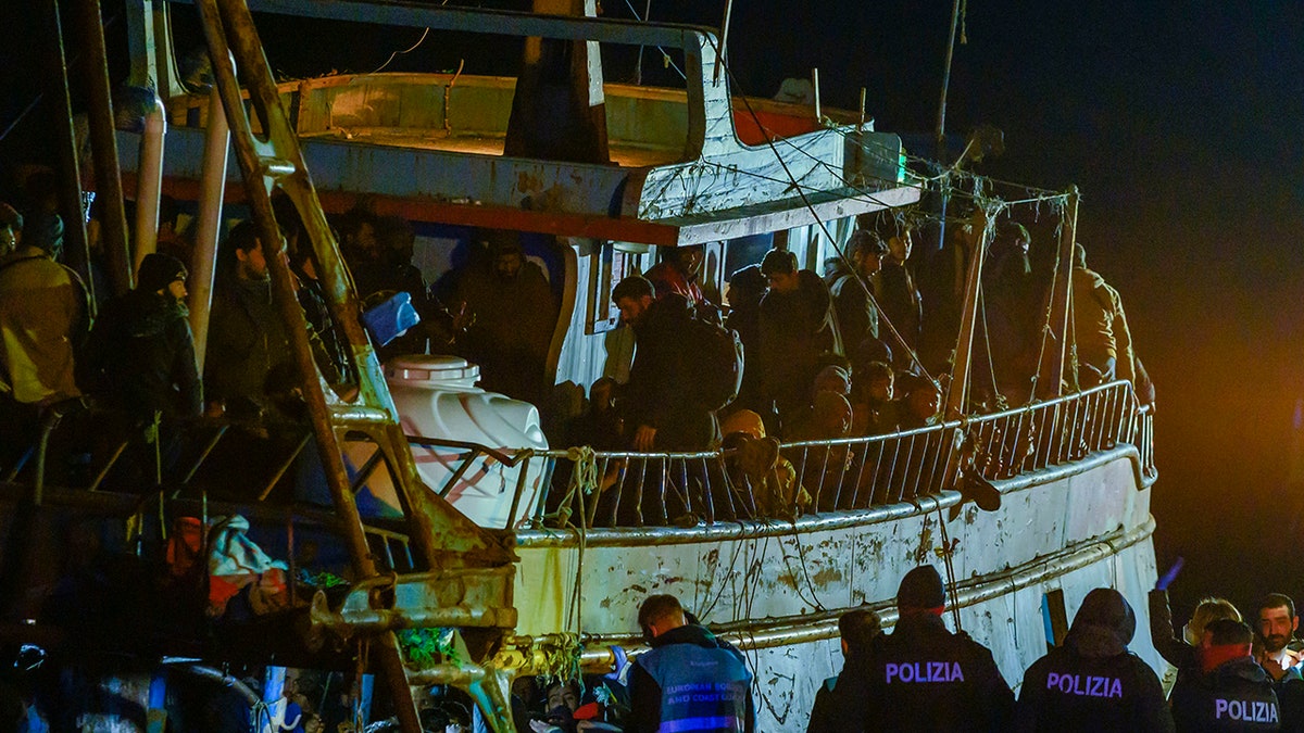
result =
[[203,390],[184,299],[186,270],[170,254],[141,261],[136,290],[111,300],[83,350],[82,386],[136,423],[196,416]]

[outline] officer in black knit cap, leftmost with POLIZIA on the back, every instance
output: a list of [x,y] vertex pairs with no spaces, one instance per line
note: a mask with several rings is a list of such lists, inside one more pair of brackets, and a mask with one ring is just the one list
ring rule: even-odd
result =
[[941,620],[941,576],[915,567],[897,590],[897,620],[863,665],[842,670],[845,730],[1008,730],[1015,694],[982,644]]

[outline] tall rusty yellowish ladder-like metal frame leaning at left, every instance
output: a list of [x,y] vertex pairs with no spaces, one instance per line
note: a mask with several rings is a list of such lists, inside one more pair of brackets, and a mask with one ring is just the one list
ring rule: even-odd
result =
[[[406,733],[421,733],[412,687],[437,682],[467,690],[490,725],[506,733],[511,729],[510,670],[466,659],[436,669],[411,670],[404,664],[395,630],[456,627],[462,630],[462,639],[472,646],[467,656],[485,657],[516,623],[511,597],[514,553],[419,479],[379,363],[359,322],[359,301],[351,277],[304,166],[297,136],[280,103],[248,5],[244,0],[194,0],[194,5],[203,23],[214,77],[244,176],[246,202],[266,253],[276,307],[288,326],[293,363],[356,579],[338,609],[327,608],[325,596],[313,600],[313,629],[370,640],[373,659],[379,663]],[[236,68],[249,85],[245,90],[248,110]],[[356,396],[335,395],[313,363],[308,326],[283,257],[286,244],[273,214],[271,192],[278,188],[295,203],[304,222],[309,241],[300,247],[313,248],[331,314],[348,339],[357,365]],[[404,513],[406,536],[422,571],[398,575],[377,569],[368,545],[369,528],[357,510],[346,468],[346,443],[359,440],[373,443],[374,450],[383,454]]]

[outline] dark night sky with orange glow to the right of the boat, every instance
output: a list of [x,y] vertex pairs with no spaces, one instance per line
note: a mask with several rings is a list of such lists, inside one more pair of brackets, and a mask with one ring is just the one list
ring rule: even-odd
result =
[[[623,0],[604,5],[630,17]],[[652,3],[655,20],[717,25],[721,12],[722,0]],[[827,104],[853,108],[865,86],[880,130],[930,132],[949,13],[945,0],[735,0],[732,65],[758,97],[819,67]],[[420,33],[259,25],[274,67],[299,74],[370,70]],[[1176,613],[1210,592],[1304,600],[1304,481],[1288,481],[1304,441],[1291,429],[1304,399],[1304,4],[974,0],[965,30],[948,130],[1004,130],[1007,153],[982,173],[1081,188],[1080,240],[1121,291],[1157,383],[1157,549],[1161,565],[1188,558]],[[13,73],[31,56],[4,46],[8,124],[35,82]],[[316,68],[299,68],[309,57]],[[426,43],[391,70],[456,57]]]

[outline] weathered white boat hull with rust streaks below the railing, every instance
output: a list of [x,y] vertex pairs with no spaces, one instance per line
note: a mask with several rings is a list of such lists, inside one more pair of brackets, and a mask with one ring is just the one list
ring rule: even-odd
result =
[[[516,631],[536,644],[579,633],[584,660],[601,666],[606,646],[640,646],[634,630],[648,595],[675,595],[747,653],[760,729],[792,730],[841,668],[837,616],[867,605],[889,626],[901,576],[923,562],[940,569],[948,543],[961,625],[992,650],[1012,686],[1055,635],[1047,618],[1072,620],[1091,588],[1121,591],[1146,629],[1154,520],[1134,447],[998,486],[1001,506],[990,513],[943,492],[795,523],[520,532]],[[1132,648],[1162,670],[1148,636]]]

